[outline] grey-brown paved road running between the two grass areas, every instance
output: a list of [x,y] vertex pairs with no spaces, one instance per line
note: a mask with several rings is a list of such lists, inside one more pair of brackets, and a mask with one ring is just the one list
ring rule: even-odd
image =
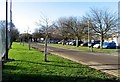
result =
[[[43,51],[44,45],[32,44],[33,47]],[[70,59],[72,61],[87,65],[89,67],[101,70],[102,72],[119,76],[120,58],[117,53],[98,53],[98,52],[82,52],[78,50],[62,49],[48,46],[48,52],[60,57]]]

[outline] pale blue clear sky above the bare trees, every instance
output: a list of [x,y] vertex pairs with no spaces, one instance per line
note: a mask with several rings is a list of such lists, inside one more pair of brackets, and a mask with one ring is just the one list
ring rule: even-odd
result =
[[[35,22],[39,21],[42,14],[54,21],[60,17],[82,17],[89,13],[90,8],[116,12],[117,2],[118,0],[13,0],[13,23],[20,33],[24,33],[28,27],[29,31],[34,32],[38,27]],[[5,20],[5,0],[0,2],[0,20]]]

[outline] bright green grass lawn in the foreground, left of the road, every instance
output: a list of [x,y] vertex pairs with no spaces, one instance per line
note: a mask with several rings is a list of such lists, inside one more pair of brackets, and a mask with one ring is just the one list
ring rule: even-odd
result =
[[13,43],[9,58],[15,61],[5,63],[2,82],[117,82],[97,70],[73,61],[48,54],[44,62],[43,52],[28,46]]

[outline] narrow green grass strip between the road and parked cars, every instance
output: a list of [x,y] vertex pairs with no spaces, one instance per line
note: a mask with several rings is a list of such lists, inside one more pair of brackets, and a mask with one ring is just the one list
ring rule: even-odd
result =
[[[40,43],[41,44],[41,43]],[[84,46],[72,46],[72,45],[62,45],[62,44],[51,44],[49,43],[50,46],[54,47],[59,47],[59,48],[67,48],[67,49],[76,49],[80,51],[92,51],[92,48],[84,47]],[[94,52],[117,52],[117,49],[100,49],[100,48],[93,48]]]

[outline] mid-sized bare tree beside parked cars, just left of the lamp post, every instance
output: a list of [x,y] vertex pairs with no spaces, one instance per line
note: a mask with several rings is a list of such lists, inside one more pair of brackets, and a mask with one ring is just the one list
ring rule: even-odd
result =
[[85,34],[87,24],[77,17],[62,18],[58,22],[61,34],[76,39],[76,46],[78,47],[78,40],[81,40]]

